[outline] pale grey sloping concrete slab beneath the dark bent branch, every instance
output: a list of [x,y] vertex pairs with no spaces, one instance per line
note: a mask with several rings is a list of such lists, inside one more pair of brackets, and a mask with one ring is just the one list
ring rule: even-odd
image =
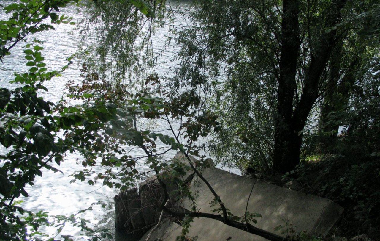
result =
[[[177,154],[176,158],[182,159],[182,156]],[[288,226],[288,230],[293,229],[296,233],[306,231],[310,234],[324,236],[343,212],[342,207],[325,198],[271,185],[260,180],[255,182],[251,178],[238,176],[221,169],[204,169],[202,174],[225,203],[226,208],[237,216],[244,214],[250,191],[255,183],[249,199],[248,211],[262,215],[262,217],[257,218],[256,227],[278,235],[287,235],[287,233],[282,234],[285,228],[274,231],[275,227],[282,225],[284,227]],[[199,185],[196,186],[194,185],[195,183]],[[196,198],[198,209],[201,212],[211,213],[211,210],[215,207],[210,207],[209,203],[214,199],[214,196],[207,186],[201,180],[198,180],[198,182],[193,180],[192,188],[193,191],[197,190],[199,192],[199,196]],[[184,202],[185,207],[188,208],[190,205],[190,201]],[[170,230],[169,234],[160,236],[157,233],[156,237],[165,241],[174,241],[181,232],[181,228],[177,224],[169,225],[166,230]],[[192,227],[189,228],[188,236],[198,237],[198,241],[266,240],[207,218],[194,219]]]

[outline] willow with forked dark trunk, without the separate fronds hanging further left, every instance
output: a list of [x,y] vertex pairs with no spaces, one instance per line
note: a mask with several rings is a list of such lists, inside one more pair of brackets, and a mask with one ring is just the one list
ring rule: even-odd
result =
[[352,39],[367,26],[365,13],[374,3],[200,1],[189,14],[192,27],[176,35],[183,47],[174,80],[215,88],[211,106],[226,126],[217,152],[242,150],[248,162],[259,156],[277,172],[293,170],[316,103],[326,96],[327,101],[335,86],[347,95],[353,68],[364,71],[359,63],[374,56],[352,51],[362,48],[361,40]]

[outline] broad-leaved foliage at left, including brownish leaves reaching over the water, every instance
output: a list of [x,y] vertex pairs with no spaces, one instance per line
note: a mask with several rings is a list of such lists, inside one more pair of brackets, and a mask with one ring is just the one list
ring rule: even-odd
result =
[[[4,64],[13,46],[29,40],[28,35],[53,29],[53,26],[42,23],[47,17],[50,16],[53,24],[69,23],[70,18],[59,17],[57,13],[52,13],[59,12],[59,8],[68,3],[71,1],[36,0],[6,6],[5,10],[7,13],[12,13],[12,16],[9,21],[2,21]],[[142,16],[148,18],[154,17],[151,8],[144,2],[129,1],[127,4],[137,14],[143,14]],[[10,32],[12,35],[9,35]],[[169,150],[185,152],[185,147],[193,155],[198,155],[193,142],[201,134],[207,135],[218,123],[215,118],[200,118],[188,113],[188,109],[193,106],[186,101],[188,96],[166,97],[159,93],[160,97],[151,97],[149,88],[128,94],[120,83],[104,81],[98,78],[97,73],[87,73],[85,65],[82,69],[83,82],[80,88],[69,83],[68,97],[81,99],[82,104],[70,105],[65,100],[59,103],[44,101],[39,97],[41,90],[48,91],[44,82],[61,75],[71,64],[72,57],[67,59],[68,64],[62,69],[48,71],[41,54],[43,43],[38,40],[29,40],[29,42],[24,46],[24,54],[25,65],[30,68],[25,73],[15,73],[14,80],[11,81],[16,84],[14,89],[2,88],[0,92],[0,141],[8,149],[7,153],[1,156],[0,238],[54,240],[58,237],[58,239],[72,240],[75,237],[57,236],[65,223],[81,227],[84,234],[91,235],[94,241],[109,238],[109,230],[93,230],[87,227],[88,220],[81,218],[80,215],[86,210],[79,211],[76,215],[49,217],[44,211],[33,213],[23,209],[20,206],[22,201],[18,198],[21,195],[28,197],[25,187],[33,186],[36,176],[43,176],[44,169],[58,172],[57,167],[67,152],[77,152],[84,156],[85,161],[82,163],[84,169],[73,177],[74,180],[87,180],[90,185],[99,180],[103,181],[103,185],[115,186],[121,190],[135,185],[136,179],[146,174],[139,173],[135,168],[136,161],[142,158],[146,160],[152,171],[161,172],[162,176],[168,172],[168,175],[169,173],[174,175],[171,178],[176,178],[180,173],[184,173],[183,167],[177,168],[167,163],[161,155]],[[147,86],[159,83],[155,76],[146,78],[145,82]],[[173,100],[176,101],[176,105],[171,104]],[[181,100],[183,106],[180,104]],[[187,124],[187,132],[181,133],[182,126],[178,134],[175,133],[177,130],[172,128],[173,137],[169,137],[136,128],[138,117],[163,119],[170,125],[168,115],[177,117],[181,121],[182,118],[186,118],[184,124]],[[195,121],[197,118],[200,120]],[[195,122],[196,126],[203,127],[190,128]],[[191,136],[191,141],[186,145],[179,143],[180,134]],[[161,143],[159,147],[156,147],[156,142]],[[134,148],[141,148],[145,154],[131,156],[130,150]],[[94,177],[93,171],[86,168],[96,164],[105,166],[106,171],[95,173]],[[92,176],[89,177],[90,175]],[[91,210],[91,207],[88,210]],[[44,235],[40,231],[43,226],[57,228],[57,235],[53,237]]]

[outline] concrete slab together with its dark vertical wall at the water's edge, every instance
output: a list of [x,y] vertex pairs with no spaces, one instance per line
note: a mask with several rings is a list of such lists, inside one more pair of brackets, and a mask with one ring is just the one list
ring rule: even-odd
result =
[[[193,161],[196,162],[196,160]],[[177,154],[173,162],[186,164],[182,154]],[[249,220],[248,222],[263,230],[261,235],[269,232],[284,238],[287,235],[303,235],[303,233],[310,236],[328,236],[329,231],[343,212],[339,205],[330,200],[268,184],[268,182],[250,177],[231,174],[215,168],[213,165],[211,168],[204,168],[201,173],[215,193],[220,196],[225,207],[231,212],[229,218],[235,220],[237,217],[244,216],[244,212],[249,213],[249,218],[246,217]],[[191,172],[182,178],[188,180],[189,177],[192,177],[191,184],[189,184],[191,193],[198,193],[198,195],[192,200],[188,200],[186,197],[179,199],[178,194],[181,192],[177,193],[179,190],[177,184],[170,180],[165,181],[168,182],[165,184],[166,186],[176,187],[171,188],[174,193],[169,193],[171,198],[166,207],[181,212],[181,207],[192,210],[193,205],[196,204],[198,212],[217,214],[217,211],[211,211],[211,209],[217,210],[218,204],[214,203],[213,205],[214,195],[210,192],[209,187],[199,177],[191,175]],[[152,187],[147,187],[150,185]],[[146,227],[153,227],[157,222],[160,222],[161,219],[158,219],[158,215],[161,210],[158,206],[163,195],[161,188],[153,179],[140,185],[138,191],[131,189],[126,193],[119,193],[115,197],[117,230],[124,228],[132,232],[140,231]],[[158,195],[158,193],[161,194]],[[150,201],[147,202],[147,200]],[[168,216],[164,216],[162,220],[165,220],[165,217],[167,220],[171,220]],[[241,220],[243,223],[245,221],[244,219]],[[176,240],[177,236],[181,236],[182,227],[180,225],[184,225],[183,222],[181,219],[169,223],[164,222],[163,227],[152,231],[151,240],[156,238],[167,241]],[[239,226],[236,226],[237,223],[226,225],[213,218],[195,218],[190,223],[191,226],[188,227],[188,233],[185,237],[189,240],[196,238],[196,240],[204,241],[228,238],[232,240],[266,240],[247,232],[247,230],[240,230]],[[147,231],[147,233],[150,232]],[[258,230],[257,232],[260,235],[261,231]]]

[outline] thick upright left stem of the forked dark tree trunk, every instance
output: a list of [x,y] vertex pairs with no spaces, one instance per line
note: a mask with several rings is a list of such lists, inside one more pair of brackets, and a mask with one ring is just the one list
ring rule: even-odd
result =
[[[277,172],[287,172],[289,166],[298,163],[298,137],[293,133],[291,117],[293,98],[296,90],[297,58],[299,56],[299,2],[284,0],[282,13],[282,36],[279,93],[274,136],[273,168]],[[295,158],[295,160],[294,160]]]

